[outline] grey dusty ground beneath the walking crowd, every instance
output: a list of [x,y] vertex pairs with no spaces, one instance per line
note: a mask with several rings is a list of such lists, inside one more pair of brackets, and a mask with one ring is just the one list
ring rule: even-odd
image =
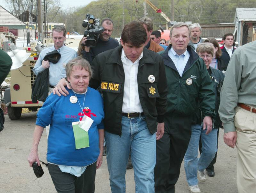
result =
[[[28,165],[28,154],[32,144],[36,113],[24,113],[21,118],[11,121],[5,115],[4,130],[0,132],[0,193],[52,193],[56,192],[48,169],[43,166],[44,175],[36,178]],[[236,188],[236,149],[224,144],[223,130],[220,141],[215,177],[199,182],[202,193],[237,193]],[[46,134],[43,133],[39,144],[39,158],[46,161]],[[95,193],[110,193],[106,157],[96,173]],[[126,192],[134,193],[133,169],[127,170]],[[176,184],[176,193],[189,193],[188,184],[181,166],[180,178]]]

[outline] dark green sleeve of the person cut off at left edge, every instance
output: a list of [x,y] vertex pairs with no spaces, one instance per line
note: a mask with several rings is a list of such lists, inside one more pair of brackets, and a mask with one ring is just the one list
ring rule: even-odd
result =
[[0,85],[10,72],[11,66],[12,58],[6,52],[0,49]]

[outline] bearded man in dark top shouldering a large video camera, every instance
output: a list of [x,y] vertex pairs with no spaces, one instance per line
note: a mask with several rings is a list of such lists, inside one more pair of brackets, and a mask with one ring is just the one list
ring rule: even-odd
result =
[[94,57],[101,52],[105,52],[109,49],[113,49],[119,46],[118,41],[110,38],[113,32],[113,21],[109,18],[106,18],[101,21],[100,25],[104,28],[104,32],[100,33],[100,38],[96,44],[96,47],[89,48],[87,46],[81,45],[85,44],[87,37],[83,37],[79,43],[77,54],[88,60],[90,64],[92,63]]

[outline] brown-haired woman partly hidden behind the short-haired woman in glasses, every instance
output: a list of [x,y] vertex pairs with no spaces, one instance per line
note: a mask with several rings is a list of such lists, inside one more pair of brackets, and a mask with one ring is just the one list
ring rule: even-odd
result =
[[222,72],[225,72],[227,70],[227,65],[222,61],[222,59],[220,59],[221,49],[218,41],[215,38],[207,38],[206,40],[204,40],[204,42],[210,43],[214,48],[213,58],[210,66],[213,68],[217,68]]

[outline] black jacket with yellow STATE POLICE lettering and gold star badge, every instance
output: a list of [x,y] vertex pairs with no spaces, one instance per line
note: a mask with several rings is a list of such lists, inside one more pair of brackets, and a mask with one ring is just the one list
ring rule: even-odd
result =
[[[103,93],[105,130],[122,135],[122,106],[124,98],[124,68],[121,61],[122,46],[97,55],[92,62],[92,88]],[[155,82],[150,83],[149,75],[154,75]],[[167,83],[164,62],[161,56],[147,48],[138,67],[138,90],[140,103],[146,117],[149,131],[156,132],[157,122],[164,122],[167,106]],[[153,92],[150,89],[153,89]]]

